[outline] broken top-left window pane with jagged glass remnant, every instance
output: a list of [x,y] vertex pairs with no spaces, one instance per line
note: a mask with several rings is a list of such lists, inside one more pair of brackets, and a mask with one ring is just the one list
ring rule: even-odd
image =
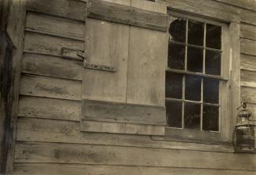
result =
[[170,16],[169,41],[186,41],[186,20]]

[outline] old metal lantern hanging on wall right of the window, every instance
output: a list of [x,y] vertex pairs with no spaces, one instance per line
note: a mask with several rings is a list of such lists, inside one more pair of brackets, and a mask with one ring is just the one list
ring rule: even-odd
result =
[[233,147],[235,152],[255,152],[255,120],[245,102],[238,108],[236,127],[233,132]]

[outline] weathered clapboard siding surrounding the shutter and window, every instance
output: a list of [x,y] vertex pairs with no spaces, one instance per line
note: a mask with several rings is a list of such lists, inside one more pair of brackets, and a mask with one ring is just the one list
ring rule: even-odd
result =
[[[131,5],[130,0],[112,2]],[[145,9],[153,9],[153,3],[158,3],[132,2]],[[254,1],[251,0],[251,5],[229,5],[228,0],[162,2],[173,9],[224,21],[238,21],[236,16],[240,14],[241,95],[251,102],[256,115],[256,93],[253,93],[256,81],[251,76],[256,73],[256,12],[250,9]],[[82,132],[83,62],[61,58],[60,50],[62,47],[84,49],[85,5],[85,1],[78,0],[27,1],[14,174],[255,174],[256,155],[234,154],[228,145]],[[130,32],[135,30],[138,29]],[[134,42],[138,38],[134,38]],[[129,61],[124,59],[125,65]],[[130,64],[136,66],[138,62],[132,60]],[[129,76],[134,77],[132,73]],[[132,88],[135,85],[128,87],[130,101],[136,100]],[[149,102],[144,96],[139,99]]]

